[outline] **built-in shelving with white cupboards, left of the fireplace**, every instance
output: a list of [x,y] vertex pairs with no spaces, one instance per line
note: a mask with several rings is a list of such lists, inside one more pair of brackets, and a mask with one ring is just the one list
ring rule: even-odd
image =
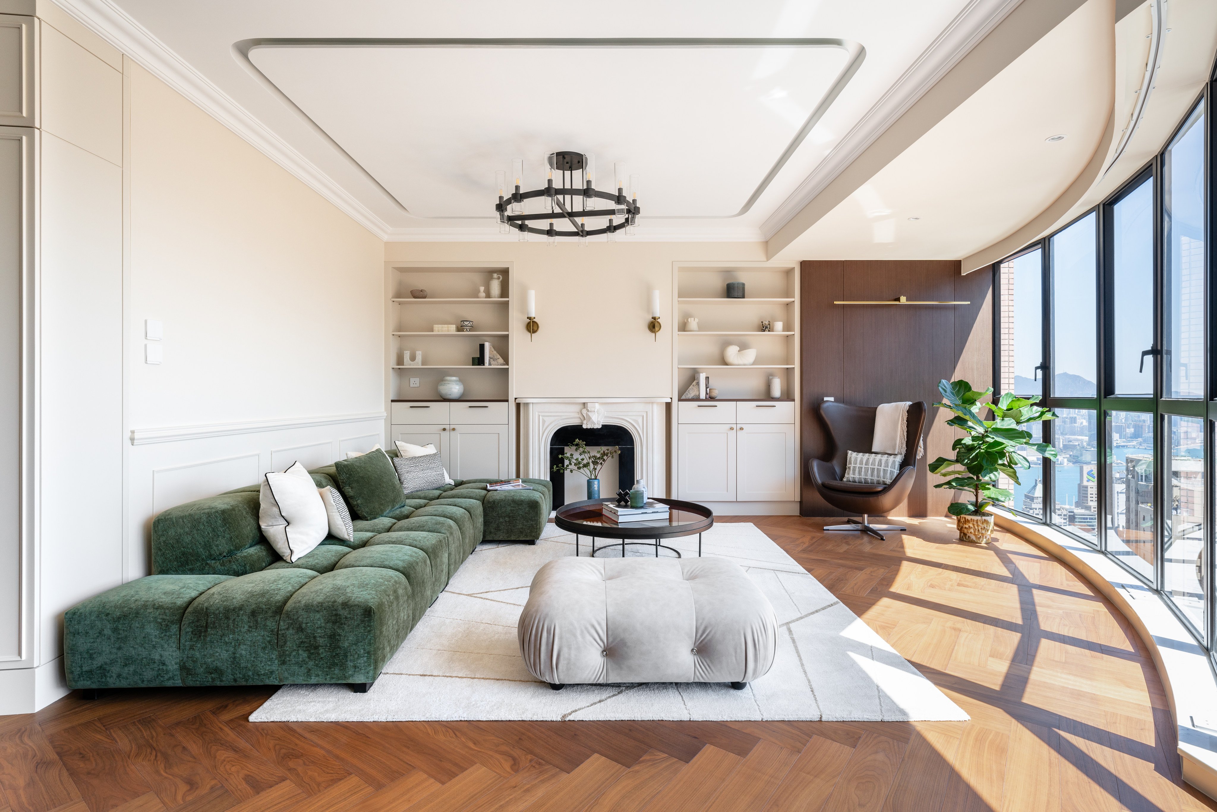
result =
[[[503,276],[499,298],[489,298],[490,274]],[[389,262],[385,267],[388,441],[434,443],[456,478],[515,472],[511,282],[512,265],[506,262]],[[487,290],[487,298],[477,296],[478,287]],[[426,290],[427,297],[410,296],[416,289]],[[473,329],[461,332],[462,320],[472,321]],[[436,332],[436,324],[454,324],[456,331]],[[506,365],[470,363],[483,341]],[[406,352],[411,358],[422,352],[422,364],[404,364]],[[439,380],[445,375],[465,385],[460,401],[439,398]],[[417,386],[410,386],[411,380]]]

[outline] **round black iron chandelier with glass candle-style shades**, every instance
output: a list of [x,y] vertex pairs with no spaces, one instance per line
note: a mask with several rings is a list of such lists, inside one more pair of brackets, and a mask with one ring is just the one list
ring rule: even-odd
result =
[[[550,152],[545,157],[546,180],[544,189],[521,191],[523,184],[523,159],[512,161],[512,177],[515,179],[515,191],[507,190],[507,173],[497,172],[495,180],[499,187],[499,202],[494,205],[494,211],[499,215],[499,230],[504,234],[515,230],[520,234],[520,240],[527,240],[528,234],[538,234],[548,239],[550,245],[557,242],[557,237],[578,237],[581,245],[587,243],[589,236],[600,234],[607,235],[610,241],[617,239],[617,234],[626,231],[629,234],[638,223],[638,175],[629,175],[628,186],[626,170],[622,164],[615,164],[617,194],[605,192],[593,186],[595,172],[595,157],[583,152]],[[554,185],[554,174],[557,174],[559,185]],[[538,213],[526,214],[525,201],[543,198],[543,209]],[[594,208],[596,200],[608,201],[607,208]],[[588,219],[607,220],[600,228],[595,223],[588,224]],[[529,223],[545,224],[545,228],[535,228]],[[557,223],[563,226],[557,228]]]

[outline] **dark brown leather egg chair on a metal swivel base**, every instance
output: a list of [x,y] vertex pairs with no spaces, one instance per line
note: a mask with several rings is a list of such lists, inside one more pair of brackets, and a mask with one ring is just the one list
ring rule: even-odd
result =
[[824,530],[863,532],[875,538],[882,538],[884,531],[908,530],[898,525],[871,525],[869,516],[886,516],[908,499],[913,489],[913,478],[916,476],[916,448],[925,429],[925,402],[909,404],[904,459],[901,460],[901,472],[888,485],[842,481],[848,452],[870,453],[870,443],[875,435],[875,407],[852,407],[825,401],[820,403],[819,409],[834,450],[829,460],[813,459],[808,463],[812,483],[824,502],[839,510],[862,516],[862,521],[851,519],[847,525],[831,525]]

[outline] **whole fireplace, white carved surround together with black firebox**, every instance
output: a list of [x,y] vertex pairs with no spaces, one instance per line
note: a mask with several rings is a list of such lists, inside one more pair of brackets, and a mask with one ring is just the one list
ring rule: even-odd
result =
[[602,497],[643,478],[655,497],[667,495],[667,404],[672,398],[516,398],[520,405],[520,476],[554,483],[554,506],[565,504],[566,477],[557,455],[574,439],[617,446],[617,482]]

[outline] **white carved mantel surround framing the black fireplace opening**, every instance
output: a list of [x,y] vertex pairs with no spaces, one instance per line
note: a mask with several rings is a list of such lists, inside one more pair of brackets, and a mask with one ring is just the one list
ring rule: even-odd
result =
[[[667,495],[667,416],[672,398],[516,398],[520,404],[520,476],[549,478],[549,442],[562,426],[623,426],[634,437],[638,476],[651,494]],[[590,425],[589,425],[590,424]]]

